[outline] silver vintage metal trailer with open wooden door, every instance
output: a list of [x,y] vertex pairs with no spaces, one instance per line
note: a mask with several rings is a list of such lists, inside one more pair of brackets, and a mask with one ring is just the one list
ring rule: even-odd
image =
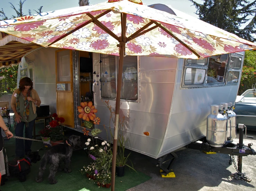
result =
[[[204,138],[210,105],[235,103],[243,61],[244,52],[203,60],[126,56],[120,106],[126,147],[158,159]],[[115,55],[39,48],[23,57],[18,81],[32,78],[42,104],[80,132],[84,125],[76,108],[91,99],[100,118],[96,126],[103,130],[100,137],[110,140],[104,125],[113,131],[114,124],[109,125],[105,103],[109,100],[114,111],[117,67]]]

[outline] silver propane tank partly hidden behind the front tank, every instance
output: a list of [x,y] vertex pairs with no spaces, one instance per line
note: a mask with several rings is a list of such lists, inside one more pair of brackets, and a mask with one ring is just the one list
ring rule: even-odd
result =
[[236,113],[233,112],[232,103],[221,103],[223,110],[227,112],[228,117],[228,129],[227,129],[227,142],[233,142],[236,138]]

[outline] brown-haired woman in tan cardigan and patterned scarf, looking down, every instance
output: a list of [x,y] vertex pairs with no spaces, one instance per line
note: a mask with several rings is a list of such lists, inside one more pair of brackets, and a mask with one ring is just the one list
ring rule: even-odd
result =
[[[33,138],[32,132],[36,120],[36,106],[40,106],[41,100],[33,89],[33,82],[30,78],[25,77],[19,81],[19,88],[16,89],[11,97],[11,108],[14,111],[15,135],[23,137],[23,129],[25,128],[25,137]],[[16,139],[16,158],[23,158],[31,152],[32,141]]]

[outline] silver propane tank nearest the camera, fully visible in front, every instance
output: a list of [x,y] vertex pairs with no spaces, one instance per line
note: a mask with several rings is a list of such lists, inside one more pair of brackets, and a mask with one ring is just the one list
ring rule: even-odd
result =
[[[220,105],[211,105],[207,117],[206,140],[212,147],[222,147],[227,141],[227,116],[219,113]],[[222,109],[222,108],[221,108]]]

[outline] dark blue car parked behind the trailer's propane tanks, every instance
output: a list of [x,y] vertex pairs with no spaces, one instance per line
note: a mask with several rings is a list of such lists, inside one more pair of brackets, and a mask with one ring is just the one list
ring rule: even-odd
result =
[[247,129],[256,130],[256,89],[246,90],[236,98],[237,125],[245,124]]

